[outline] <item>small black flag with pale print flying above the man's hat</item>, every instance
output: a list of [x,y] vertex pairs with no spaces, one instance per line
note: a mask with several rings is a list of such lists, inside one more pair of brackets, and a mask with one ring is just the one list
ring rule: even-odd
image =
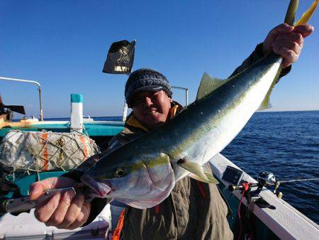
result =
[[135,43],[135,40],[132,43],[129,43],[128,40],[112,43],[103,72],[129,74],[133,67]]

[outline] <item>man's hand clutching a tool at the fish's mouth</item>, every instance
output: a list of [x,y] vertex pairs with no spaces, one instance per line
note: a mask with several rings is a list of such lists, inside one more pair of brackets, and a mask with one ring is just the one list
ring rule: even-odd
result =
[[[71,178],[47,178],[40,182],[34,182],[30,186],[30,200],[37,199],[46,190],[72,187],[76,182]],[[84,195],[67,191],[57,193],[45,204],[35,208],[35,217],[47,226],[55,226],[60,229],[76,229],[81,227],[89,217],[91,204],[84,202]]]

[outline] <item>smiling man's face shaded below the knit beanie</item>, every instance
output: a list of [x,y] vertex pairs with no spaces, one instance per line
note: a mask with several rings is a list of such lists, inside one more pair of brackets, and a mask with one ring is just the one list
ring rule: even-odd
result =
[[171,108],[172,99],[163,90],[158,92],[140,91],[132,100],[135,117],[147,129],[164,124]]

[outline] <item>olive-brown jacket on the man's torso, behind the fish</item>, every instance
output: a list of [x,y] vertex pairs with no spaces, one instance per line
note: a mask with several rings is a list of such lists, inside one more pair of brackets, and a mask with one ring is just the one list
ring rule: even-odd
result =
[[[170,117],[175,115],[174,110],[181,110],[175,104]],[[110,146],[121,146],[145,132],[147,129],[131,114]],[[128,207],[122,236],[123,239],[233,239],[227,214],[228,206],[216,185],[186,177],[175,183],[169,197],[159,205],[149,209]]]

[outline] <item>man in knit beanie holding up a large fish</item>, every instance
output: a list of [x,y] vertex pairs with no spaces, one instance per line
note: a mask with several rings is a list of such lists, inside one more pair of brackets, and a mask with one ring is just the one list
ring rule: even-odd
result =
[[[269,32],[264,43],[257,45],[252,55],[237,67],[233,74],[274,51],[284,58],[281,76],[285,75],[290,70],[291,62],[296,62],[301,53],[303,38],[312,32],[313,27],[309,25],[276,26]],[[152,81],[148,81],[150,79]],[[174,117],[177,113],[175,111],[180,109],[179,105],[172,101],[172,92],[166,78],[152,70],[138,70],[130,75],[125,86],[125,98],[133,108],[133,114],[128,118],[123,132],[111,141],[111,148],[157,128]],[[76,179],[72,173],[69,176]],[[44,190],[72,185],[76,182],[72,178],[49,178],[35,182],[31,186],[30,197],[35,199]],[[38,207],[35,216],[47,225],[74,229],[93,220],[103,204],[105,202],[99,199],[95,199],[92,203],[84,202],[84,195],[81,193],[74,196],[65,192],[53,196],[47,204]],[[159,206],[143,210],[130,207],[125,213],[123,237],[124,239],[150,237],[152,239],[155,237],[231,239],[232,234],[225,219],[226,214],[227,207],[215,185],[203,183],[198,185],[198,182],[184,178],[176,183],[172,194]]]

